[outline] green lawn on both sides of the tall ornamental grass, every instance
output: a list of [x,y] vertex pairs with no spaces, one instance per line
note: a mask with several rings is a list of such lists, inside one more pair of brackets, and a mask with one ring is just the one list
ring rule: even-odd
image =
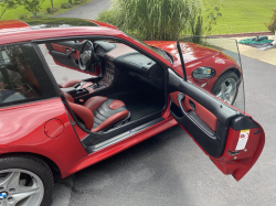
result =
[[[79,4],[73,4],[78,7],[87,3],[79,2]],[[202,0],[209,3],[213,3],[216,0]],[[71,9],[61,9],[63,2],[67,0],[54,0],[54,7],[59,11],[54,14],[65,12]],[[269,22],[269,18],[273,15],[273,9],[276,10],[276,0],[223,0],[223,8],[221,9],[222,18],[217,20],[216,26],[213,28],[212,34],[227,34],[227,33],[243,33],[243,32],[262,32],[267,31],[264,23]],[[39,13],[41,17],[50,17],[53,14],[46,13],[46,8],[51,8],[50,0],[45,0],[42,4],[42,9]],[[31,13],[23,7],[19,7],[14,10],[7,11],[1,20],[19,19],[20,14]]]

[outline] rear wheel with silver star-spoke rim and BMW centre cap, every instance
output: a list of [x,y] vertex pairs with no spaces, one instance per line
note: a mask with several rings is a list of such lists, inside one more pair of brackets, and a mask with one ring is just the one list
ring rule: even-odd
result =
[[[31,155],[11,154],[2,156],[0,158],[0,177],[2,177],[0,178],[0,202],[9,202],[14,206],[18,205],[17,203],[30,206],[50,205],[54,178],[52,171],[44,161]],[[11,181],[3,184],[4,180],[9,177]],[[35,188],[35,192],[29,195],[28,191],[33,188]],[[19,192],[17,193],[17,191]],[[25,194],[29,196],[24,197]],[[4,196],[6,198],[3,198]]]

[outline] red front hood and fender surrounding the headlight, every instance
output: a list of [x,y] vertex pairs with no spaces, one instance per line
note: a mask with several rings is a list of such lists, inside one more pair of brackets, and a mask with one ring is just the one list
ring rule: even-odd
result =
[[[174,63],[172,65],[173,69],[183,76],[183,71],[180,62],[180,56],[177,48],[176,41],[145,41],[145,43],[160,47],[173,56]],[[217,78],[227,69],[236,68],[242,73],[241,67],[236,62],[222,52],[205,47],[194,43],[180,43],[187,71],[187,79],[192,84],[201,86],[206,83],[204,87],[205,90],[211,91]],[[192,77],[192,72],[201,66],[209,66],[215,68],[215,76],[210,79],[194,79]]]

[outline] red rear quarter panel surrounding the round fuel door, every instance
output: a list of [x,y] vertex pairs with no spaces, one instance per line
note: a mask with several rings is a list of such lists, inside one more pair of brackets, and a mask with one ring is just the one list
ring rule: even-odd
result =
[[[60,167],[62,176],[85,158],[60,98],[0,109],[0,154],[12,152],[35,153],[51,159]],[[56,139],[44,132],[45,123],[57,119],[64,132]]]

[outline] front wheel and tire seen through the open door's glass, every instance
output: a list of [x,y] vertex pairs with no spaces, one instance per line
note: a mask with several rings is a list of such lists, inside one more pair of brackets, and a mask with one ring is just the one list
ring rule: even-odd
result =
[[[223,101],[233,105],[237,95],[237,88],[238,88],[238,82],[240,78],[238,76],[233,72],[233,71],[227,71],[225,73],[223,73],[219,79],[216,80],[216,83],[214,84],[211,93],[219,97],[220,99],[222,99]],[[232,87],[232,93],[227,93],[227,89],[223,93],[223,88],[225,88],[225,86],[223,87],[223,84],[227,85],[227,87]],[[229,89],[231,90],[231,89]]]

